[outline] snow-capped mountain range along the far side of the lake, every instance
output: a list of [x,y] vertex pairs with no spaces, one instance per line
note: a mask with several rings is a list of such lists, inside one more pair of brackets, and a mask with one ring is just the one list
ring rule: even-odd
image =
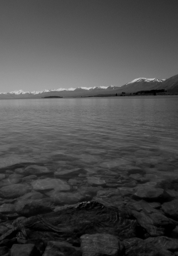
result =
[[169,93],[178,93],[178,75],[167,79],[137,78],[123,86],[100,86],[100,87],[79,87],[79,88],[58,88],[44,91],[11,91],[0,93],[0,98],[43,98],[48,96],[61,97],[88,97],[108,96],[125,93],[136,93],[137,91],[150,91],[164,89]]

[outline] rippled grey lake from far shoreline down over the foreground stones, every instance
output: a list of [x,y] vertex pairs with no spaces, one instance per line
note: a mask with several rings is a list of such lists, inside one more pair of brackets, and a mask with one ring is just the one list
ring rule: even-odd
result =
[[1,100],[1,252],[81,256],[88,236],[127,256],[178,251],[177,101]]

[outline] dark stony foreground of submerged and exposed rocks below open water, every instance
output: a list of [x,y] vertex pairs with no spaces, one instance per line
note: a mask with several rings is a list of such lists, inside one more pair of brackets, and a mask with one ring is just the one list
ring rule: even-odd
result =
[[178,170],[104,170],[1,168],[0,255],[177,256]]

